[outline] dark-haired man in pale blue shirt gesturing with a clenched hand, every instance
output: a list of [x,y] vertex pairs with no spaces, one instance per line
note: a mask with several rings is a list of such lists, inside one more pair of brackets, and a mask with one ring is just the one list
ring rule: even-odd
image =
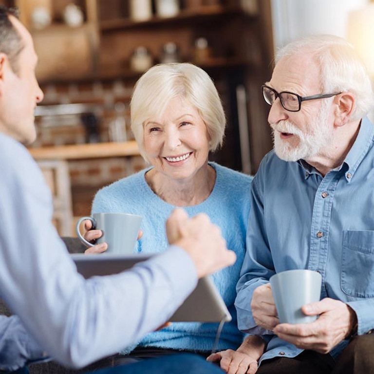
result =
[[[36,136],[33,112],[43,98],[36,65],[31,35],[0,6],[0,297],[19,316],[0,318],[0,371],[16,370],[44,350],[72,367],[114,354],[165,323],[199,277],[235,261],[206,216],[189,220],[177,210],[167,223],[174,245],[164,253],[114,276],[77,274],[51,224],[48,187],[21,144]],[[175,370],[221,372],[187,355],[112,373]]]

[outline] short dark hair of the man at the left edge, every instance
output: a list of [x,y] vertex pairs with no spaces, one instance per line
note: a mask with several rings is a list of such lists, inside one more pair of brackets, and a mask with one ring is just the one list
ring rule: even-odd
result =
[[9,16],[19,18],[18,8],[8,8],[0,5],[0,53],[5,53],[9,58],[10,67],[18,73],[18,56],[24,44]]

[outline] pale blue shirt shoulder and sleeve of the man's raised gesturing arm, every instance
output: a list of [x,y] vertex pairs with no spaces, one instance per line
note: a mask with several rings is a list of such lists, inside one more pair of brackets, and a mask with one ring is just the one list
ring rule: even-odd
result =
[[[62,364],[85,366],[133,344],[195,288],[195,266],[175,246],[131,271],[86,281],[51,223],[52,210],[29,152],[0,133],[0,297]],[[19,353],[9,352],[7,361],[22,366]]]

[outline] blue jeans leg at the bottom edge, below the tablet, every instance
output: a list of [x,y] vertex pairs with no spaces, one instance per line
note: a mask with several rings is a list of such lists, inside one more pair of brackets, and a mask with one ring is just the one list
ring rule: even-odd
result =
[[[92,374],[223,374],[216,365],[192,354],[166,355],[139,362],[116,366]],[[90,373],[87,373],[90,374]]]

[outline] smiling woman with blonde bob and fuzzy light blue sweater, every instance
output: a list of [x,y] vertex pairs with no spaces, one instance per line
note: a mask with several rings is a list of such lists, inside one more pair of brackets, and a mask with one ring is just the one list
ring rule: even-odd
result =
[[[144,235],[136,244],[138,253],[155,253],[167,247],[164,224],[176,206],[183,206],[190,216],[204,212],[219,225],[237,262],[212,276],[232,315],[232,321],[224,325],[218,349],[235,350],[243,341],[234,300],[245,252],[252,178],[208,162],[209,151],[222,145],[224,128],[221,100],[202,69],[189,63],[152,67],[138,80],[131,98],[131,129],[151,167],[98,191],[92,213],[142,215]],[[100,235],[100,231],[92,230],[86,238]],[[208,355],[217,328],[216,323],[173,323],[148,334],[137,350],[143,347]]]

